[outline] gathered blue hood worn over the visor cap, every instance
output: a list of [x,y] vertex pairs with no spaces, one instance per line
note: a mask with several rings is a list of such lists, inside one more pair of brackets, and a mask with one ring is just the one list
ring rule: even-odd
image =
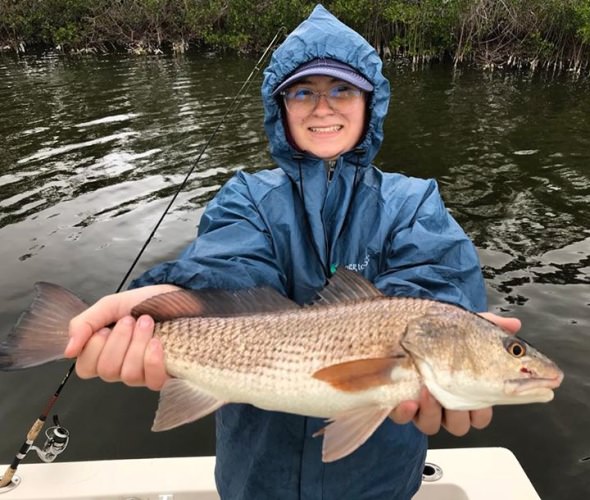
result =
[[[264,128],[270,142],[270,153],[277,164],[291,175],[296,175],[292,169],[296,168],[293,156],[297,151],[287,141],[281,106],[272,93],[301,64],[316,58],[346,63],[373,84],[374,90],[368,101],[368,126],[358,145],[363,153],[359,158],[355,155],[351,161],[369,165],[383,142],[389,82],[381,72],[381,58],[356,31],[340,22],[323,6],[317,5],[311,15],[276,49],[264,71],[262,83]],[[354,153],[345,153],[343,156],[346,159],[351,154]],[[310,155],[310,158],[313,157]]]

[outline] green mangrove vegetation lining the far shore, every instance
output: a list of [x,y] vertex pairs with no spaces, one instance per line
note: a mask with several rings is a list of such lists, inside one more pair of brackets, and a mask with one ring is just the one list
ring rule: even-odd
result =
[[[0,45],[17,53],[256,54],[307,0],[0,0]],[[384,59],[588,74],[590,0],[325,0]]]

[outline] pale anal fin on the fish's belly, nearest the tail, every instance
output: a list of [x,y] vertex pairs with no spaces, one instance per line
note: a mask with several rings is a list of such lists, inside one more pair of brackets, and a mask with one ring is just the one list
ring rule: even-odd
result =
[[223,406],[225,401],[204,393],[186,380],[168,380],[160,391],[160,402],[152,431],[167,431],[188,424]]

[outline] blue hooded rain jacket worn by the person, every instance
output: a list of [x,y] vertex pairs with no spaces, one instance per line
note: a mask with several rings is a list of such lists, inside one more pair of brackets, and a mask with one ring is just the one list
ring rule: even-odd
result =
[[[339,157],[328,180],[324,161],[285,138],[273,89],[317,57],[357,68],[375,87],[367,131]],[[389,83],[381,60],[356,32],[317,6],[275,51],[262,85],[265,130],[279,168],[240,172],[209,203],[198,237],[178,259],[132,286],[186,288],[270,285],[299,303],[312,299],[332,266],[362,273],[387,295],[435,298],[486,309],[476,251],[449,215],[432,180],[371,165],[383,140]],[[302,190],[304,191],[302,193]],[[217,411],[216,481],[231,500],[409,499],[420,486],[426,437],[389,419],[351,455],[321,460],[324,426],[306,418],[229,404]]]

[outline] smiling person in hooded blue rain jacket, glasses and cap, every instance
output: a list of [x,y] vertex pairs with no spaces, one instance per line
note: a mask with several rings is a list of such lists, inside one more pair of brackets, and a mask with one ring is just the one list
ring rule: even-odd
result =
[[[276,168],[237,173],[209,203],[197,238],[176,260],[72,321],[66,355],[79,355],[81,377],[161,388],[167,376],[153,321],[134,321],[128,313],[146,296],[175,287],[269,285],[304,304],[344,266],[387,295],[486,310],[476,250],[435,181],[383,173],[371,163],[390,98],[381,70],[365,39],[322,6],[314,9],[274,52],[264,74],[264,125]],[[103,328],[115,321],[112,330]],[[423,392],[419,402],[400,405],[358,450],[328,464],[321,460],[321,438],[312,437],[322,420],[245,404],[220,408],[221,497],[411,498],[420,486],[425,433],[442,424],[460,435],[491,419],[490,409],[444,411]]]

